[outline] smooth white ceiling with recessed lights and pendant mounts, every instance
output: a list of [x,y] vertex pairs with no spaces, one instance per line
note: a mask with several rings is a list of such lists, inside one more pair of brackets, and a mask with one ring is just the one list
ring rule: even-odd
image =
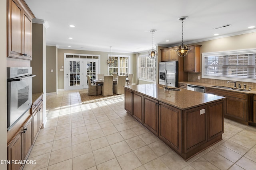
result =
[[[256,0],[25,0],[48,22],[46,44],[61,49],[135,53],[256,32]],[[74,28],[69,25],[75,25]],[[226,24],[231,26],[214,29]],[[219,35],[214,36],[215,33]],[[73,39],[68,39],[72,37]],[[166,42],[169,40],[169,42]],[[68,46],[71,47],[68,47]]]

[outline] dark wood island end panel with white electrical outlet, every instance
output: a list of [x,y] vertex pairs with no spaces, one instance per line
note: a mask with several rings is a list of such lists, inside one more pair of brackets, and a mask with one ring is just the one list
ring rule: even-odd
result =
[[202,106],[185,111],[185,152],[206,142],[206,109]]

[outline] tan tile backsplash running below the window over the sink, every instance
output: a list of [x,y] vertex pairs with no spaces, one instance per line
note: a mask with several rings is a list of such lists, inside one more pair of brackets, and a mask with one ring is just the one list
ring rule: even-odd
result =
[[[217,80],[217,79],[210,79],[210,78],[202,78],[201,80],[198,80],[198,76],[202,76],[201,73],[188,73],[188,81],[189,82],[200,82],[200,83],[207,83],[212,84],[216,86],[228,86],[228,87],[234,87],[233,83],[227,83],[227,81],[232,81],[232,78],[227,80]],[[251,87],[252,89],[256,89],[256,83],[252,82],[237,82],[236,86],[238,87],[238,84],[241,84],[241,88],[244,88],[243,84],[246,84],[246,89]]]

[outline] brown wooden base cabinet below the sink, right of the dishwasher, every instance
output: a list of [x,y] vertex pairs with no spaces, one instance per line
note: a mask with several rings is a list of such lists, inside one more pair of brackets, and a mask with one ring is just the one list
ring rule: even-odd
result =
[[224,112],[225,117],[239,121],[240,123],[248,124],[247,113],[250,113],[247,107],[247,94],[215,88],[207,88],[206,92],[226,97],[226,111]]

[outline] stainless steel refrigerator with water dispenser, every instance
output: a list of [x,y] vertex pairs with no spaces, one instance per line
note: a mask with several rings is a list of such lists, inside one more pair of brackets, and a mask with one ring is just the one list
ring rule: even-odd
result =
[[178,61],[159,63],[159,84],[166,83],[168,86],[178,87]]

